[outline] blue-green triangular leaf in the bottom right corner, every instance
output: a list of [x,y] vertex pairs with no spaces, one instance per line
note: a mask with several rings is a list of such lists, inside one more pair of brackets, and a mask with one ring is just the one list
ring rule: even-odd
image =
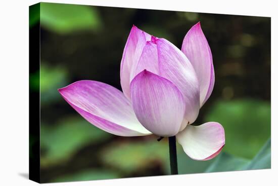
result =
[[243,170],[270,169],[271,168],[271,140],[264,144],[254,159]]

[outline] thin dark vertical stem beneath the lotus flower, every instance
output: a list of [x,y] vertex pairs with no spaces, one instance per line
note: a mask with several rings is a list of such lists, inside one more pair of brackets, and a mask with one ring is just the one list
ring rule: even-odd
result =
[[177,172],[177,158],[176,158],[176,136],[170,136],[169,139],[169,154],[171,174],[178,174]]

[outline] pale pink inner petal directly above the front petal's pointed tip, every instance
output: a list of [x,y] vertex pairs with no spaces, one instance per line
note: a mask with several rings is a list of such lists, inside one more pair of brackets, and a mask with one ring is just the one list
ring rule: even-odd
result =
[[147,41],[137,65],[133,66],[131,80],[144,69],[158,75],[157,46],[150,41]]

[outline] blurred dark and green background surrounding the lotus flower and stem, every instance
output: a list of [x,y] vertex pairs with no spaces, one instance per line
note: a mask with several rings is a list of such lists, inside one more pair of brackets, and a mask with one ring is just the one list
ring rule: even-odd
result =
[[[57,89],[95,80],[121,90],[120,61],[132,25],[181,47],[201,21],[215,69],[196,125],[225,129],[222,153],[194,161],[177,144],[179,173],[270,168],[270,18],[40,3],[41,182],[169,174],[167,139],[119,137],[86,122]],[[39,71],[31,75],[37,86]],[[33,86],[32,86],[33,85]]]

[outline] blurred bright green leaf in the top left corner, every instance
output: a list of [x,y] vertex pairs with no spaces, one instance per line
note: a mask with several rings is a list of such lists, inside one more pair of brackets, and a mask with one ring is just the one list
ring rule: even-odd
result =
[[40,23],[58,33],[96,30],[101,26],[97,9],[92,6],[40,3]]

